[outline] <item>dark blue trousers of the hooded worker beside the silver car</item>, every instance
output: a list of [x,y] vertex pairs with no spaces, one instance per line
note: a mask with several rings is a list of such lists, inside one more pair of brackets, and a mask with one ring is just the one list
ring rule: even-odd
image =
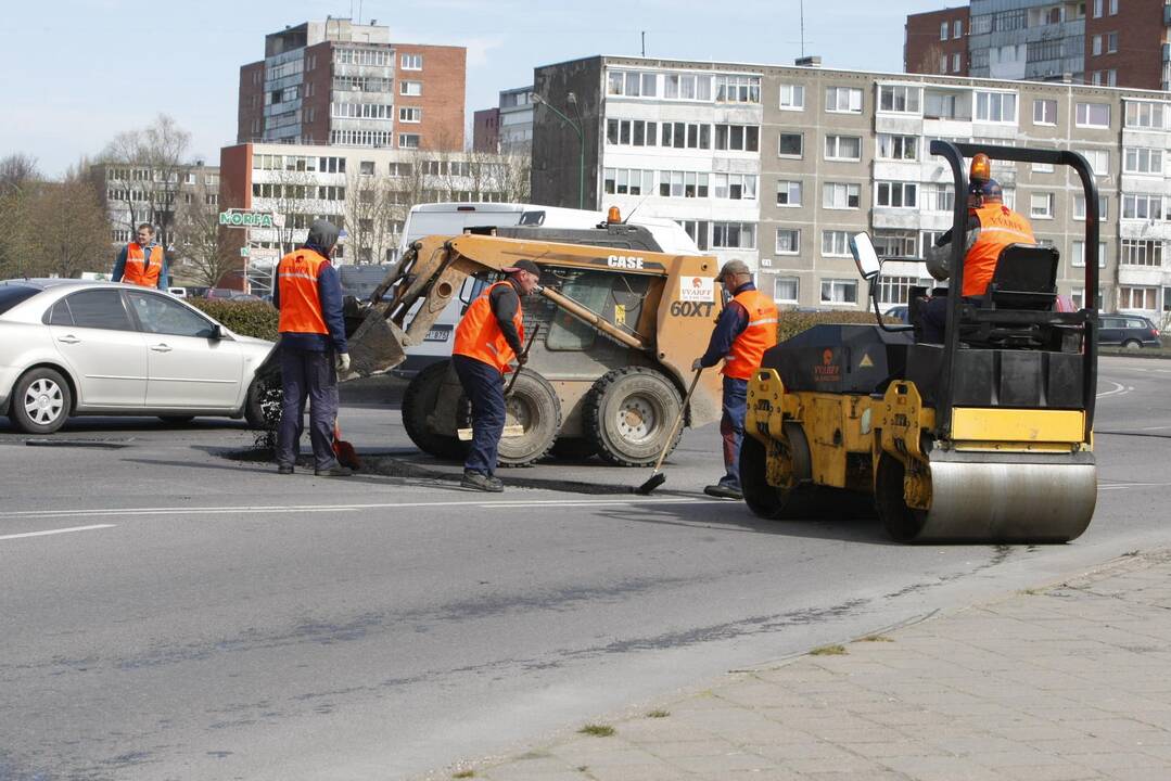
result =
[[276,432],[276,463],[293,466],[301,450],[304,403],[309,405],[309,441],[317,470],[337,463],[334,457],[334,422],[337,419],[337,371],[333,350],[299,350],[282,345],[281,425]]

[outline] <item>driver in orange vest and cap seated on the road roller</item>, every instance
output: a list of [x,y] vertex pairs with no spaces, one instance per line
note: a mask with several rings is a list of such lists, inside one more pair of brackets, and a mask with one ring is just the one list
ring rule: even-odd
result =
[[[982,157],[977,155],[977,158]],[[987,158],[985,158],[985,162]],[[979,306],[997,272],[1001,251],[1011,244],[1035,245],[1033,226],[1021,214],[1004,204],[1004,193],[995,179],[978,173],[979,160],[972,162],[972,179],[967,194],[964,279],[960,295]],[[986,169],[984,169],[986,170]],[[952,231],[949,229],[924,253],[927,270],[937,280],[951,276]],[[947,297],[934,296],[922,309],[923,341],[941,344],[947,323]]]

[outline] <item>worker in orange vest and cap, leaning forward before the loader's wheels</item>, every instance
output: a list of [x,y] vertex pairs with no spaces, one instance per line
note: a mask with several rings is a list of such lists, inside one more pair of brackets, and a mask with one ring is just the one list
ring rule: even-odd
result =
[[464,313],[456,328],[451,362],[472,402],[472,446],[464,460],[460,485],[474,491],[499,493],[504,484],[495,477],[497,453],[505,430],[505,374],[516,359],[516,371],[527,361],[520,300],[536,289],[541,269],[532,260],[501,269],[508,276],[489,286]]

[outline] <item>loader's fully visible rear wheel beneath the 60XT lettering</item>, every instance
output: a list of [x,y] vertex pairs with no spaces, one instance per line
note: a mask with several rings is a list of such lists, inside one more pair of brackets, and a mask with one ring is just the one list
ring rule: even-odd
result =
[[679,390],[663,374],[643,366],[615,369],[586,395],[586,438],[610,464],[651,466],[664,447],[670,454],[679,444],[683,426],[673,424],[682,407]]

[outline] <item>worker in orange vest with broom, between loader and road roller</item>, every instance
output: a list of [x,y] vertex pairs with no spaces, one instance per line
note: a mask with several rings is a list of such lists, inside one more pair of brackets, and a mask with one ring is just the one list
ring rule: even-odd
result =
[[744,419],[748,411],[748,379],[760,368],[765,350],[776,344],[776,304],[756,289],[752,270],[742,260],[724,263],[719,276],[725,295],[731,295],[715,321],[707,351],[696,358],[696,371],[724,361],[724,412],[720,436],[724,438],[724,477],[704,488],[708,496],[742,499],[740,491],[740,443]]

